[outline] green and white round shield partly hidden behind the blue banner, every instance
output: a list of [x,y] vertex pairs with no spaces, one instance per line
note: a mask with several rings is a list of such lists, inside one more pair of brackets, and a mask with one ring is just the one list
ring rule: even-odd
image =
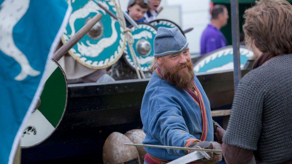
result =
[[67,82],[57,62],[48,63],[45,85],[36,106],[22,132],[20,146],[28,148],[45,141],[59,125],[67,103]]

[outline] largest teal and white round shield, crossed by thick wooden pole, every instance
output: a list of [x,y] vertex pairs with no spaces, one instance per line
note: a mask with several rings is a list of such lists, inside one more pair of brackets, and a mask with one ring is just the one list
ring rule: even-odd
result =
[[[114,0],[95,1],[116,15]],[[68,1],[72,6],[72,14],[63,34],[62,42],[67,42],[93,16],[101,13],[102,19],[69,50],[69,54],[82,65],[101,69],[118,61],[123,54],[126,39],[119,22],[99,7],[95,1]]]

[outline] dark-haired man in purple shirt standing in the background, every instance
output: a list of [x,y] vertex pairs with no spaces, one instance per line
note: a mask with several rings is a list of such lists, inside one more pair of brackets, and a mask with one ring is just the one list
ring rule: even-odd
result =
[[224,5],[214,5],[211,23],[208,24],[201,36],[201,55],[226,46],[226,38],[221,33],[220,28],[227,24],[228,18],[228,11]]

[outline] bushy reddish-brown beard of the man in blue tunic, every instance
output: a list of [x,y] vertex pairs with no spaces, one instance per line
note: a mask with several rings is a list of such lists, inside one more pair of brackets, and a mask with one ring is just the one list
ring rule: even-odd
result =
[[[186,70],[181,70],[182,68]],[[187,62],[174,68],[167,68],[163,63],[161,68],[162,76],[172,85],[180,89],[186,89],[192,87],[194,81],[193,62]]]

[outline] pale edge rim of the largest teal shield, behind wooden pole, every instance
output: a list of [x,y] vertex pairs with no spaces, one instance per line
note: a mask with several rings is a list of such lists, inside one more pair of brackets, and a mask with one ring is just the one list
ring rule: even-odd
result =
[[[67,1],[70,1],[70,0],[67,0]],[[88,1],[90,1],[90,0],[88,0]],[[109,1],[114,1],[114,0],[109,0]],[[110,15],[109,15],[109,16],[110,16]],[[110,17],[112,17],[112,16],[110,16]],[[119,24],[120,24],[120,23],[119,23]],[[67,25],[68,25],[68,24],[67,24]],[[67,27],[67,26],[66,26],[66,27]],[[120,27],[121,27],[121,24],[120,24]],[[123,32],[121,31],[121,33],[123,33]],[[75,34],[76,34],[76,33],[75,33]],[[63,44],[65,44],[66,41],[65,41],[63,35],[64,35],[64,33],[62,34],[61,41],[62,41]],[[71,39],[71,38],[70,38],[70,39]],[[108,67],[112,66],[113,64],[115,64],[115,63],[116,63],[116,62],[117,62],[117,61],[123,56],[124,49],[125,49],[125,46],[126,46],[126,42],[127,42],[127,38],[126,38],[126,35],[124,34],[123,47],[121,47],[121,52],[119,53],[118,57],[117,57],[114,61],[112,61],[112,62],[108,62],[107,65],[104,65],[104,66],[102,66],[102,67],[92,67],[91,65],[87,65],[87,64],[85,64],[84,62],[82,62],[78,57],[76,57],[76,56],[71,52],[71,49],[72,49],[73,47],[68,51],[68,54],[69,54],[73,59],[75,59],[78,63],[80,63],[81,65],[83,65],[83,66],[85,66],[85,67],[87,67],[87,68],[92,68],[92,69],[99,70],[99,69],[108,68]]]

